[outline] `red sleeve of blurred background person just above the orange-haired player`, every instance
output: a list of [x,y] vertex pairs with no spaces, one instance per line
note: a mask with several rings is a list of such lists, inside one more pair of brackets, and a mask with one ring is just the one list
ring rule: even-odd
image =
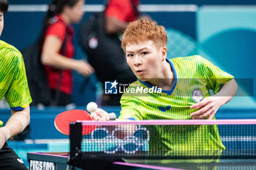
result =
[[113,17],[127,22],[129,14],[133,11],[130,0],[111,0],[105,11],[106,17]]

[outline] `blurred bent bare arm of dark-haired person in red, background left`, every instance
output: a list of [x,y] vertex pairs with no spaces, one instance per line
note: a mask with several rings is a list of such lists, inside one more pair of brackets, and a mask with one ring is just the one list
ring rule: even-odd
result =
[[60,55],[61,45],[61,39],[58,36],[49,35],[45,38],[41,57],[44,65],[53,66],[56,69],[72,69],[85,77],[94,72],[94,68],[89,63]]

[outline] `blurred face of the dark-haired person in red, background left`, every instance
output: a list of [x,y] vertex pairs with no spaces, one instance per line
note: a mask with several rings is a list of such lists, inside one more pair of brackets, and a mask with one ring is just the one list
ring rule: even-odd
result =
[[83,5],[84,5],[85,1],[84,0],[79,0],[77,2],[77,4],[75,4],[75,6],[73,7],[68,7],[69,12],[67,12],[69,14],[69,19],[71,21],[71,23],[78,23],[81,18],[83,18]]

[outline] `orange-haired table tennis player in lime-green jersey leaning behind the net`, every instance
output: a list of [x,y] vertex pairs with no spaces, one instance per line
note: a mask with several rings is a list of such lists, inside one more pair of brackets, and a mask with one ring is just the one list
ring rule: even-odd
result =
[[[165,28],[156,22],[139,19],[129,24],[122,37],[122,48],[129,67],[138,77],[129,85],[129,91],[157,90],[140,94],[126,91],[121,97],[118,120],[212,120],[219,107],[236,94],[237,84],[232,75],[200,55],[169,60],[166,45]],[[214,95],[210,96],[209,90]],[[91,113],[91,117],[108,120],[102,109]],[[151,137],[158,139],[150,140],[150,150],[225,150],[217,125],[148,128]]]

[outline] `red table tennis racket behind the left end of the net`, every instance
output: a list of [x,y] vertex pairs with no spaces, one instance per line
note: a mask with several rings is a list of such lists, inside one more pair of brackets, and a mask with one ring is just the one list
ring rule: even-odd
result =
[[[91,120],[91,116],[84,110],[72,109],[57,115],[54,125],[61,134],[69,135],[69,123],[76,122],[77,120]],[[85,125],[82,133],[83,135],[90,134],[95,128],[97,128],[96,125]]]

